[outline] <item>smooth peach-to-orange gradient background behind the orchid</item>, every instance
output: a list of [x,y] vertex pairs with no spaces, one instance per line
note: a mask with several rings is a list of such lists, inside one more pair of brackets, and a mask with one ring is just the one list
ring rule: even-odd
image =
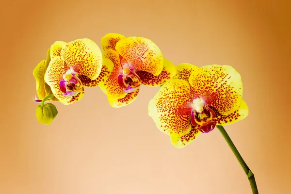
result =
[[1,194],[250,194],[215,129],[183,149],[147,115],[158,87],[114,109],[99,88],[55,103],[37,122],[33,68],[56,40],[109,32],[154,41],[175,65],[232,65],[249,116],[226,130],[260,194],[291,193],[290,3],[271,0],[4,1],[1,20]]

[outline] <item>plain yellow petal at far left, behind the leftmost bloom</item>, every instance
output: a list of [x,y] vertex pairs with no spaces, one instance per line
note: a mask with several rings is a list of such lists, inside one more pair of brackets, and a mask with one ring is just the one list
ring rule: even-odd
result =
[[36,93],[39,99],[43,100],[47,96],[45,91],[45,73],[47,70],[46,60],[41,61],[34,69],[33,76],[36,81]]

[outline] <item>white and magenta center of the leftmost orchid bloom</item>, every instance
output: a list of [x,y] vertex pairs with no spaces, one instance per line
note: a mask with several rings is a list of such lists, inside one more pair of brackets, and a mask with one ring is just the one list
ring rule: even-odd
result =
[[82,90],[82,81],[78,78],[78,73],[69,69],[63,75],[62,81],[60,81],[60,88],[63,95],[66,97],[73,97],[79,94]]

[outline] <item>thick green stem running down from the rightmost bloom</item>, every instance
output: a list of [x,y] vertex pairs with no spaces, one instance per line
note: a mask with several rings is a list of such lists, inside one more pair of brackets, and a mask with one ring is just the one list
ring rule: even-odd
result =
[[230,137],[226,133],[226,130],[224,129],[224,127],[221,126],[221,125],[216,125],[216,127],[221,132],[222,136],[225,138],[225,140],[226,140],[228,146],[230,147],[231,151],[234,153],[235,157],[240,162],[243,171],[245,172],[247,178],[249,179],[253,194],[259,194],[258,188],[257,188],[257,183],[256,183],[256,180],[255,180],[255,175],[252,173],[251,169],[249,169],[249,167],[246,165],[246,163],[242,159],[242,156],[241,156],[240,152],[234,146],[234,144],[231,141]]

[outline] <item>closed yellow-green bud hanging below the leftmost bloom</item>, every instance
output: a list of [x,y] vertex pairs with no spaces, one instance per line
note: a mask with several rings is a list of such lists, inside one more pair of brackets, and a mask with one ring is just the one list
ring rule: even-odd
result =
[[38,122],[49,125],[52,120],[57,116],[58,111],[55,105],[51,103],[47,103],[42,105],[38,105],[36,108],[36,118]]

